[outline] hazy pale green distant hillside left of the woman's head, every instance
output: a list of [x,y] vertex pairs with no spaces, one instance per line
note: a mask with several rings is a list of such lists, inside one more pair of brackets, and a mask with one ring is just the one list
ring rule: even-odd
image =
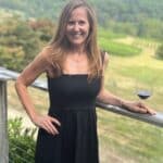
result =
[[51,17],[57,20],[61,8],[65,4],[67,0],[1,0],[0,7],[4,9],[11,9],[24,12],[26,17]]

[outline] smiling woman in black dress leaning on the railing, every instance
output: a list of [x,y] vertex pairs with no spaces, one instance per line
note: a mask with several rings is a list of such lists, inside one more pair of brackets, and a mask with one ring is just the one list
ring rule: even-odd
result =
[[[65,5],[51,42],[22,72],[15,87],[32,122],[39,127],[36,163],[99,163],[96,100],[154,114],[103,87],[108,54],[97,45],[95,12],[84,1]],[[47,73],[50,108],[36,112],[27,87]]]

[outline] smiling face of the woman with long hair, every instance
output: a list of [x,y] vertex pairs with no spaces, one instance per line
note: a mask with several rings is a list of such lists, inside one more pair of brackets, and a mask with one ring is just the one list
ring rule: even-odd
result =
[[65,35],[74,47],[83,47],[89,35],[89,22],[87,11],[84,8],[75,9],[67,22]]

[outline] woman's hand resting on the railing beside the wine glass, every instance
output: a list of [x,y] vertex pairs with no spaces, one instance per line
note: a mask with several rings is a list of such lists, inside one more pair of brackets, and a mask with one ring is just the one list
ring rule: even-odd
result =
[[123,106],[126,108],[127,110],[138,112],[138,113],[143,113],[143,114],[151,114],[154,115],[156,112],[149,106],[147,106],[143,102],[141,101],[136,101],[136,102],[124,102]]

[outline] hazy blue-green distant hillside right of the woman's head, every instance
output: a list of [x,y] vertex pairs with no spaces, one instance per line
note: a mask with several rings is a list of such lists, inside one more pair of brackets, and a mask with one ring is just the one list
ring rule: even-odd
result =
[[103,22],[136,22],[142,18],[163,20],[162,0],[91,0]]

